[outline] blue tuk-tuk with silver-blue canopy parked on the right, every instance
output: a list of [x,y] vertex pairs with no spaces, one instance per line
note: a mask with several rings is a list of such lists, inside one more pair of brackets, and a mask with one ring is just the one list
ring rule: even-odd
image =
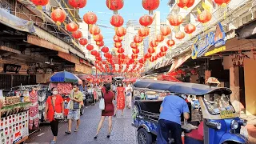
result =
[[[181,116],[185,144],[248,142],[247,138],[240,134],[241,126],[246,126],[246,122],[238,118],[234,111],[229,99],[231,90],[228,88],[183,82],[138,80],[134,83],[134,94],[138,94],[137,90],[166,93],[168,94],[166,97],[181,96],[182,94],[198,96],[202,109],[202,121],[191,118],[190,102],[187,102],[190,119],[184,122],[184,118]],[[136,95],[134,95],[135,97]],[[139,144],[151,144],[156,140],[161,103],[162,100],[134,100],[132,126],[138,128]]]

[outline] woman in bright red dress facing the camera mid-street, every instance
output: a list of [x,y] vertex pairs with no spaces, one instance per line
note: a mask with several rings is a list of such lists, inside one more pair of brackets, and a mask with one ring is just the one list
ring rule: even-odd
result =
[[122,116],[123,116],[123,109],[126,105],[126,97],[125,97],[125,91],[126,89],[122,86],[122,83],[119,83],[118,88],[118,98],[117,98],[117,109],[114,111],[114,117],[117,114],[118,110],[122,110]]

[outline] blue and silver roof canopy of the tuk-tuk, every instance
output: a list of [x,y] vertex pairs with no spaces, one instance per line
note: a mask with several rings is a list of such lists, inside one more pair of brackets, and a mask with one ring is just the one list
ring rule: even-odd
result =
[[229,95],[232,91],[225,87],[210,87],[202,84],[189,82],[167,82],[151,79],[141,79],[134,83],[135,88],[145,88],[151,90],[165,90],[175,94],[204,95],[210,93]]

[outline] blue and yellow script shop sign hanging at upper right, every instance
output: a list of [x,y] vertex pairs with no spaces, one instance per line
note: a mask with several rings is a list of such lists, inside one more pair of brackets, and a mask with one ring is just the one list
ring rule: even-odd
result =
[[200,39],[200,35],[196,38],[194,43],[191,46],[192,50],[192,59],[196,59],[198,57],[202,57],[206,54],[206,51],[209,50],[211,46],[223,46],[226,43],[226,34],[223,30],[222,24],[218,22],[216,26],[215,33],[210,32],[206,34],[205,38]]

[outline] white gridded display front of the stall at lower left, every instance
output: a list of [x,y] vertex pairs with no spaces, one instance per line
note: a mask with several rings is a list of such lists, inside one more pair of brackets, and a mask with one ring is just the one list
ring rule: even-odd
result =
[[1,118],[0,144],[12,144],[29,135],[28,110]]

